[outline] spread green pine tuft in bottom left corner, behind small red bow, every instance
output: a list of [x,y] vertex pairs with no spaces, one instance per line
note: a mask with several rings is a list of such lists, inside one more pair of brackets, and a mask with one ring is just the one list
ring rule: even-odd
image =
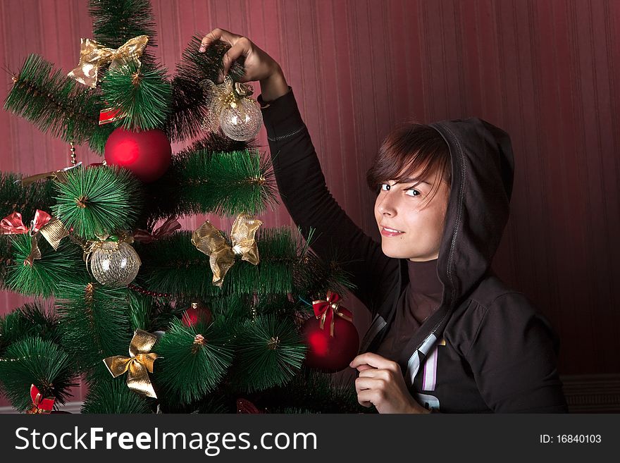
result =
[[11,405],[24,412],[32,407],[30,385],[43,397],[56,397],[56,405],[70,397],[77,385],[72,362],[60,346],[32,337],[11,344],[0,359],[0,381]]

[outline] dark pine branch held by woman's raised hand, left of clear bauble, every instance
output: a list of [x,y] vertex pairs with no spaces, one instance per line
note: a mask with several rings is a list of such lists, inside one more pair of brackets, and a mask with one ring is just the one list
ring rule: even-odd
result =
[[[173,109],[168,119],[168,135],[173,141],[186,140],[201,135],[200,125],[207,114],[203,82],[217,82],[223,69],[222,58],[230,45],[220,40],[213,42],[200,53],[202,35],[194,35],[177,64],[173,78]],[[233,61],[230,77],[238,81],[244,74],[243,59]]]

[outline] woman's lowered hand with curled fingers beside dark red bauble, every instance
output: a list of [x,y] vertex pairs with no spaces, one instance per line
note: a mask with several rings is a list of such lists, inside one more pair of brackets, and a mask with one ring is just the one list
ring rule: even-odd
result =
[[359,371],[355,390],[360,405],[374,405],[379,413],[430,413],[411,397],[396,362],[366,352],[355,357],[349,366]]

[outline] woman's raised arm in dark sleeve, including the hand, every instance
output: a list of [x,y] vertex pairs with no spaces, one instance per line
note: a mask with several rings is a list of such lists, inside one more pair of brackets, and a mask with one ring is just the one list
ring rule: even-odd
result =
[[397,259],[386,257],[381,246],[368,237],[337,204],[325,185],[325,177],[309,132],[299,114],[292,89],[280,65],[246,37],[215,29],[202,40],[202,49],[216,39],[230,44],[224,72],[230,63],[245,56],[243,82],[259,80],[259,102],[273,160],[280,197],[293,221],[308,237],[314,228],[311,247],[323,259],[345,261],[353,276],[354,294],[368,309],[378,309],[396,283]]

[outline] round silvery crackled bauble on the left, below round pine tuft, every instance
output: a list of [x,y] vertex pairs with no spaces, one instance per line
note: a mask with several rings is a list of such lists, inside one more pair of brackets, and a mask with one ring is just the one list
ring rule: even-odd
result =
[[140,270],[140,256],[126,242],[101,242],[89,256],[92,276],[112,288],[127,286]]

